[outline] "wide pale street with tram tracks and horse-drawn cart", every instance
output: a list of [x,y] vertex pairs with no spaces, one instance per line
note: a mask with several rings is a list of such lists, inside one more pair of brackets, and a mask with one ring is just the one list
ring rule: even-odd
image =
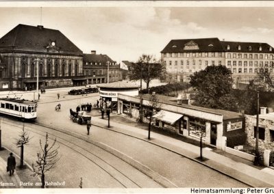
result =
[[[43,142],[46,132],[51,141],[57,137],[61,158],[56,167],[46,174],[47,181],[65,181],[65,185],[60,186],[65,188],[77,188],[80,178],[83,178],[84,188],[161,188],[164,186],[161,180],[169,182],[172,187],[247,187],[213,169],[142,139],[94,126],[101,120],[99,116],[92,117],[90,135],[87,135],[86,125],[70,120],[69,109],[75,111],[77,105],[86,102],[94,105],[99,94],[69,96],[68,90],[52,90],[42,94],[38,102],[36,124],[25,124],[25,129],[33,137],[25,146],[25,161],[30,165],[36,161],[36,153],[40,151],[39,139]],[[59,100],[57,93],[60,93]],[[32,93],[24,96],[31,98],[30,100],[33,98]],[[54,110],[58,103],[61,104],[61,111]],[[107,125],[107,120],[103,122]],[[20,149],[10,139],[18,136],[22,126],[22,122],[2,120],[3,146],[14,150],[16,154],[20,153]],[[54,130],[55,128],[58,130]],[[99,148],[99,144],[103,146]],[[103,147],[107,147],[108,151]],[[112,150],[118,150],[131,158],[132,165],[114,156]],[[153,180],[149,173],[139,171],[134,166],[137,162],[144,169],[152,171],[153,175],[158,175],[160,181]]]

